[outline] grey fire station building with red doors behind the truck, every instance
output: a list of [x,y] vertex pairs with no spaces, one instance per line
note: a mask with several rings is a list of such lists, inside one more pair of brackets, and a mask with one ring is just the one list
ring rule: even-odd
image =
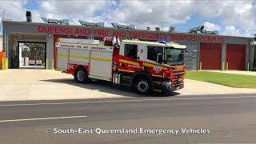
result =
[[102,41],[106,36],[118,36],[121,40],[166,40],[186,45],[189,52],[185,55],[186,70],[250,70],[254,66],[253,38],[14,21],[3,21],[4,64],[6,69],[20,66],[22,56],[19,43],[42,42],[46,44],[46,69],[52,70],[55,68],[54,43],[58,38]]

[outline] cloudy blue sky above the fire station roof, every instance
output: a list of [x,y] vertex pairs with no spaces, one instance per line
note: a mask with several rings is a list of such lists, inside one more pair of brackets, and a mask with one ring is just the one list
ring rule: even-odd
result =
[[[187,32],[196,26],[218,30],[222,35],[254,37],[256,34],[256,0],[0,0],[0,18],[26,21],[26,10],[32,12],[32,22],[42,17],[133,24],[138,29],[160,27]],[[112,26],[111,26],[112,27]],[[2,34],[2,30],[0,30]]]

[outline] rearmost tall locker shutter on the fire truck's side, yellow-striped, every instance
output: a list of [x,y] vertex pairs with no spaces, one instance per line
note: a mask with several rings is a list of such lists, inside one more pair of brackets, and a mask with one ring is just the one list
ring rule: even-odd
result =
[[68,61],[68,49],[58,47],[57,49],[57,70],[66,70]]

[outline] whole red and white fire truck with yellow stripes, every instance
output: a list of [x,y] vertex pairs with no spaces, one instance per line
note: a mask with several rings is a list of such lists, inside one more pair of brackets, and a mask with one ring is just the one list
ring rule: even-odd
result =
[[93,79],[129,86],[138,94],[174,91],[184,87],[184,51],[174,42],[104,38],[58,38],[56,70],[73,74],[79,83]]

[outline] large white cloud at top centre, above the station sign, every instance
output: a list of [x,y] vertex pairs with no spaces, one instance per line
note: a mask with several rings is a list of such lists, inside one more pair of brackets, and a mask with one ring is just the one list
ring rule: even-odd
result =
[[191,1],[120,1],[115,10],[104,14],[113,22],[126,22],[146,29],[147,26],[161,26],[187,22],[192,12]]

